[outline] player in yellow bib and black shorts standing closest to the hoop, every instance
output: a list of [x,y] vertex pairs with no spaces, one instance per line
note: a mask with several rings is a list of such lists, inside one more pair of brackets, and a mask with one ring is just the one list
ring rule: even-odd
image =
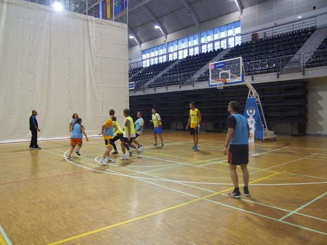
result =
[[188,121],[188,125],[186,126],[186,130],[189,129],[190,126],[190,134],[193,135],[194,145],[190,148],[190,150],[197,151],[198,150],[198,141],[199,141],[199,130],[200,130],[200,122],[201,122],[201,113],[195,108],[195,103],[190,103],[190,117]]

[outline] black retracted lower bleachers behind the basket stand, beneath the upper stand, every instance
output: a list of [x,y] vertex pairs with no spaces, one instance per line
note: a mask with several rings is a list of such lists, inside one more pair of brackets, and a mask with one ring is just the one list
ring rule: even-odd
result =
[[[298,81],[254,85],[260,94],[268,126],[276,123],[291,125],[307,123],[307,85],[308,82]],[[228,117],[226,106],[231,100],[235,100],[244,108],[247,95],[246,86],[231,86],[223,90],[206,88],[136,95],[130,97],[130,110],[131,115],[136,115],[136,112],[141,110],[146,123],[145,127],[151,127],[148,119],[151,119],[151,109],[156,108],[163,118],[162,127],[177,128],[177,125],[182,124],[179,126],[181,129],[188,123],[189,103],[192,98],[201,111],[201,130],[205,130],[206,123],[208,123],[208,125],[213,125],[214,131],[223,131],[226,129]],[[243,114],[242,111],[240,113]]]

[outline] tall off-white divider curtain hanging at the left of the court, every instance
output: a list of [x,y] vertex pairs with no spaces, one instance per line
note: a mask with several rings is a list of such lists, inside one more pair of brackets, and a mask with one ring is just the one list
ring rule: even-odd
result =
[[127,25],[20,0],[0,0],[0,142],[68,137],[78,113],[88,135],[109,109],[129,107]]

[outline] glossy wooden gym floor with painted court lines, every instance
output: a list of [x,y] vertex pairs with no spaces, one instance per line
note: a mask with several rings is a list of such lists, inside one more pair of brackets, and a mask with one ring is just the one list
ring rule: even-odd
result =
[[141,156],[109,166],[101,137],[70,160],[68,139],[0,144],[0,244],[327,244],[326,137],[250,144],[237,200],[225,134],[201,132],[198,152],[188,132],[163,136],[146,130]]

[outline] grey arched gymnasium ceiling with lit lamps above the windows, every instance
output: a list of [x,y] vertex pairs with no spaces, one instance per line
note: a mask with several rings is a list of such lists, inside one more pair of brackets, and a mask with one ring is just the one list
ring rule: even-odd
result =
[[[168,35],[269,0],[128,0],[128,30],[139,43]],[[128,46],[137,45],[129,39]]]

